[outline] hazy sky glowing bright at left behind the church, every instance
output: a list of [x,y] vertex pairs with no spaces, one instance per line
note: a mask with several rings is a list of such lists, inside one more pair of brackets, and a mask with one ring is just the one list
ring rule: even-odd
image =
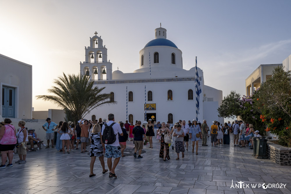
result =
[[204,72],[205,84],[245,94],[260,65],[291,54],[291,1],[0,1],[0,53],[33,66],[34,110],[57,108],[36,100],[58,76],[79,73],[85,46],[97,31],[113,71],[133,72],[139,51],[167,29],[183,67]]

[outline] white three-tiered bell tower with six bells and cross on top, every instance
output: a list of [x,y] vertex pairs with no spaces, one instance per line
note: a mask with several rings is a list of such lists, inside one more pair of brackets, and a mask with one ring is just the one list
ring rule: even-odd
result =
[[90,46],[85,46],[85,61],[80,61],[80,72],[90,76],[90,80],[112,80],[112,63],[107,61],[107,48],[101,36],[90,37]]

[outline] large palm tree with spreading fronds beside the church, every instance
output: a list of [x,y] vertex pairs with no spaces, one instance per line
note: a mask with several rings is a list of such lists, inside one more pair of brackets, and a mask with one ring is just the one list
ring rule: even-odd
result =
[[56,86],[48,89],[52,95],[38,95],[36,99],[50,101],[63,108],[67,119],[74,123],[98,106],[116,103],[110,101],[110,94],[101,93],[105,87],[93,88],[93,82],[89,82],[89,77],[82,74],[67,76],[63,73],[54,83]]

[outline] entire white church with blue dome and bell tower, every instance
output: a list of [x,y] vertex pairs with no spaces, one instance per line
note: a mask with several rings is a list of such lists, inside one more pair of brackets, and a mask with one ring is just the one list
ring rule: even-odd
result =
[[[80,62],[82,74],[90,76],[95,86],[106,87],[103,91],[111,94],[117,104],[104,105],[92,110],[91,120],[115,115],[115,121],[146,120],[175,123],[179,120],[196,118],[195,61],[190,70],[183,69],[182,51],[167,38],[167,30],[155,29],[155,39],[139,51],[139,63],[132,73],[119,70],[112,72],[112,63],[107,60],[107,48],[101,36],[90,37],[90,46],[85,47],[85,61]],[[198,120],[211,124],[220,123],[217,108],[220,106],[222,91],[204,85],[203,71],[198,68],[201,86]],[[87,117],[89,118],[89,117]]]

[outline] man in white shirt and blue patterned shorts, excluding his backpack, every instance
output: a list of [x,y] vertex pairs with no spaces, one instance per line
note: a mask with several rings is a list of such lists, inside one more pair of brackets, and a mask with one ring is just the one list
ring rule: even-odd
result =
[[[107,126],[110,126],[113,122],[114,122],[114,115],[113,114],[109,114],[108,115],[108,123],[105,123]],[[102,136],[103,136],[103,132],[105,129],[105,124],[102,126],[102,132],[101,132],[101,143],[102,142]],[[120,124],[115,123],[112,125],[114,134],[116,134],[116,140],[115,142],[113,142],[112,144],[105,144],[105,157],[107,157],[107,166],[109,168],[109,178],[111,177],[115,177],[117,178],[117,176],[115,175],[115,168],[119,162],[120,156],[121,156],[121,147],[119,145],[119,140],[118,140],[118,133],[120,134],[120,136],[123,136],[123,132],[122,129],[120,127]],[[112,158],[114,159],[113,162],[113,166],[112,166]]]

